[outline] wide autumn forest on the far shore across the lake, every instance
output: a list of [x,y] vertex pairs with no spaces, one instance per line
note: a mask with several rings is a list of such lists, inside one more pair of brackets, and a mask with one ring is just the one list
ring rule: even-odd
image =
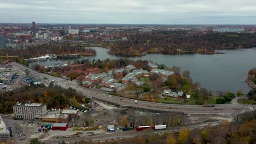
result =
[[256,46],[256,34],[191,31],[157,31],[126,33],[126,41],[105,43],[108,53],[141,56],[154,53],[214,53],[215,49],[237,49]]

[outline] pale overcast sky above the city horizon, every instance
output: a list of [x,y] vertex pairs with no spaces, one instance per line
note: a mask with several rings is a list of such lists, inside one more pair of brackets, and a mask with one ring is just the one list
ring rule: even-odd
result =
[[256,24],[256,0],[0,0],[0,22]]

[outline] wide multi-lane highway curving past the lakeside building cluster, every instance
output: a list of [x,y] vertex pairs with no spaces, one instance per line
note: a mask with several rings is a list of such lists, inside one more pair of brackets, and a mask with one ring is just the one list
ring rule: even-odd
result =
[[[18,63],[10,63],[14,68],[25,71],[25,69],[29,69],[20,65]],[[38,73],[38,71],[30,70],[30,75],[34,77],[46,77],[50,81],[56,82],[57,85],[63,88],[72,87],[76,89],[78,93],[86,95],[90,98],[95,97],[104,101],[108,101],[109,103],[115,103],[123,106],[135,107],[136,109],[146,109],[146,110],[156,110],[156,111],[165,111],[165,112],[184,112],[190,114],[199,114],[199,115],[207,115],[207,114],[219,114],[219,115],[231,115],[232,113],[236,113],[237,111],[245,112],[252,111],[256,109],[256,105],[241,105],[241,104],[222,104],[216,105],[215,107],[202,107],[202,105],[174,105],[174,104],[161,104],[161,103],[153,103],[150,101],[141,101],[129,98],[120,98],[112,95],[109,97],[108,93],[98,92],[95,89],[85,88],[77,85],[77,83],[73,81],[68,81],[62,79],[60,77],[51,76],[44,73]],[[45,82],[44,82],[45,83]],[[121,99],[121,100],[120,100]]]

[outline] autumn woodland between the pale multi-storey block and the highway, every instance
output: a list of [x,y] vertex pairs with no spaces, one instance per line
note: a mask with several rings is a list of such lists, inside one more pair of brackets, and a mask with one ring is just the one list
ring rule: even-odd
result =
[[[13,113],[13,106],[19,103],[42,103],[47,107],[65,108],[69,105],[78,106],[78,103],[84,103],[88,98],[82,97],[74,89],[64,89],[53,82],[49,87],[41,85],[26,85],[22,89],[0,92],[0,113]],[[49,108],[48,108],[49,109]]]

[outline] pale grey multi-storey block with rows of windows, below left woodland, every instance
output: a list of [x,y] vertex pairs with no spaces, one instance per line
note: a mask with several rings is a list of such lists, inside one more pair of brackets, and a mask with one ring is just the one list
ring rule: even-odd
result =
[[13,106],[15,118],[21,119],[42,119],[46,113],[46,105],[38,103],[21,104],[17,103]]

